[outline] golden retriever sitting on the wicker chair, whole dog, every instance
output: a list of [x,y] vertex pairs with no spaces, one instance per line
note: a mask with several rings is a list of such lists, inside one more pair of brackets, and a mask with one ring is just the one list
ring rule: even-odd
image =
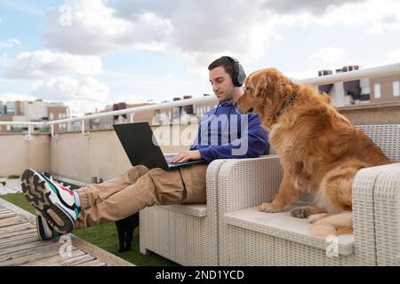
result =
[[293,83],[274,68],[247,77],[244,95],[236,100],[239,112],[260,114],[284,166],[275,200],[260,205],[260,211],[282,211],[303,193],[313,193],[309,206],[291,214],[308,217],[311,235],[321,238],[353,232],[351,187],[357,170],[389,163],[330,103],[326,93]]

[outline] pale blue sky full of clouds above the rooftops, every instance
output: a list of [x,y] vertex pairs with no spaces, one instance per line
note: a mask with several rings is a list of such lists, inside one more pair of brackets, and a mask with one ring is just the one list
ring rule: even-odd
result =
[[61,101],[71,114],[212,93],[208,65],[249,75],[400,62],[397,0],[0,0],[0,101]]

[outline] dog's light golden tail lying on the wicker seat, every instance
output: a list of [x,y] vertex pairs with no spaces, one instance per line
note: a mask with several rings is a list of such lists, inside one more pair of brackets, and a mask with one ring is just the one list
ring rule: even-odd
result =
[[324,217],[311,225],[310,233],[318,238],[351,234],[353,233],[353,212],[348,211]]

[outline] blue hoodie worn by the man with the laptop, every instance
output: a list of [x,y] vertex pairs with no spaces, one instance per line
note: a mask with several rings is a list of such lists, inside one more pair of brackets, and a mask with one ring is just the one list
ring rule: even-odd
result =
[[190,150],[200,150],[206,162],[253,158],[268,153],[268,132],[259,114],[239,114],[232,103],[221,102],[204,114]]

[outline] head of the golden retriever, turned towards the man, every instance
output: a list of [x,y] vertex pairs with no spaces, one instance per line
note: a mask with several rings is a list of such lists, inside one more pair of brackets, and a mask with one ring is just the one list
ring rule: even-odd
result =
[[252,112],[261,115],[275,114],[284,101],[298,89],[298,85],[275,68],[261,69],[249,75],[242,97],[236,100],[236,108],[242,114]]

